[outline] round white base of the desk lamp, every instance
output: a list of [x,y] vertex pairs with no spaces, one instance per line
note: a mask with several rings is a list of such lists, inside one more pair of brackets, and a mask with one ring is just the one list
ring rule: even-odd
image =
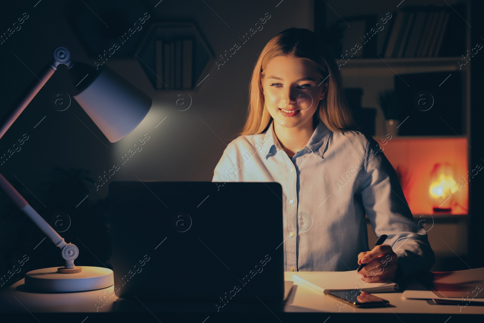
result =
[[25,288],[36,292],[84,292],[112,286],[114,274],[111,269],[82,266],[73,274],[57,272],[59,267],[32,270],[25,274]]

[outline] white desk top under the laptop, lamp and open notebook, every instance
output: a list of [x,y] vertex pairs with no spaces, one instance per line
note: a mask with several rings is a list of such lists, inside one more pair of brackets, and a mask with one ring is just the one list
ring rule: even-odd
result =
[[[316,273],[316,272],[315,272]],[[285,272],[285,279],[292,280],[294,272]],[[113,287],[103,290],[77,293],[36,293],[23,289],[24,279],[0,292],[0,311],[30,312],[108,312],[118,299],[113,295]],[[421,287],[414,282],[407,289]],[[340,313],[438,313],[438,314],[484,314],[484,307],[467,306],[459,312],[457,305],[429,305],[425,300],[408,300],[402,297],[402,292],[374,293],[387,299],[390,306],[387,308],[354,308],[339,303],[338,300],[322,295],[312,289],[295,283],[287,296],[285,312],[340,312]],[[106,296],[108,295],[108,296]],[[111,298],[109,298],[109,295]],[[106,304],[100,306],[99,297],[106,296]]]

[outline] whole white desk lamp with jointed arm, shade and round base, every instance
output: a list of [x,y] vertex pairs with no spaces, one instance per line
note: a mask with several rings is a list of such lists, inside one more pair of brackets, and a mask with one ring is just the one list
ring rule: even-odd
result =
[[[26,90],[24,98],[14,106],[12,114],[0,128],[0,138],[29,105],[45,82],[60,64],[69,69],[69,76],[78,93],[77,103],[104,133],[110,142],[116,142],[133,131],[151,108],[151,98],[123,79],[106,65],[99,69],[71,61],[64,47],[54,50],[54,60],[42,70],[39,81],[34,80]],[[74,265],[79,255],[76,245],[66,243],[40,216],[17,190],[0,174],[0,187],[52,242],[61,248],[64,267],[32,270],[25,274],[25,287],[39,292],[81,292],[102,289],[114,284],[113,271],[102,267]]]

